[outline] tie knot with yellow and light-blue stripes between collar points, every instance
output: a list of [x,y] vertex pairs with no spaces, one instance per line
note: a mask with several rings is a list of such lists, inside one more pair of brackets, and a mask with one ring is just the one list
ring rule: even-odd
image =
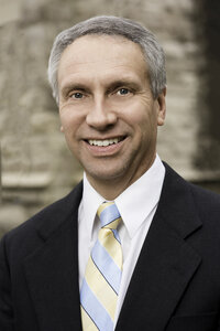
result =
[[116,229],[121,222],[121,215],[114,202],[103,202],[97,213],[101,227]]

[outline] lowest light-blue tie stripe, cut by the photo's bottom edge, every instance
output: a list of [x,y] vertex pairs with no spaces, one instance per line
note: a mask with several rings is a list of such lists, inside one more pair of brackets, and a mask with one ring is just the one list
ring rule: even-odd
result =
[[94,295],[85,279],[80,291],[80,302],[85,311],[99,330],[113,330],[113,321],[97,297]]

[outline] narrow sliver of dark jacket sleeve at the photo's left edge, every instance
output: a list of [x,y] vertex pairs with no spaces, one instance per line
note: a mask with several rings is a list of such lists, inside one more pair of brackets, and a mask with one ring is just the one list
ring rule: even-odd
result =
[[0,330],[15,330],[13,327],[11,281],[6,253],[6,236],[0,241]]

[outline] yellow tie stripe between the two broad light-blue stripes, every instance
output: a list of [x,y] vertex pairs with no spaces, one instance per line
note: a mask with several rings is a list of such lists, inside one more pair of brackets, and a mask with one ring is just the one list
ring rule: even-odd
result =
[[85,275],[86,281],[92,290],[92,292],[96,295],[97,299],[106,308],[113,321],[118,296],[114,292],[114,290],[110,287],[110,285],[105,280],[103,276],[97,269],[91,258],[89,258],[88,260],[87,268],[88,273],[86,273]]

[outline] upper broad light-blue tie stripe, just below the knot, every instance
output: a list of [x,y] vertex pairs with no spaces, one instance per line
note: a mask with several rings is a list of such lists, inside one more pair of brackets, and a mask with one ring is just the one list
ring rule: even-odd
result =
[[121,270],[114,264],[113,259],[110,257],[106,248],[99,243],[99,241],[97,241],[96,245],[94,246],[91,258],[99,271],[103,275],[106,280],[118,295],[121,281]]

